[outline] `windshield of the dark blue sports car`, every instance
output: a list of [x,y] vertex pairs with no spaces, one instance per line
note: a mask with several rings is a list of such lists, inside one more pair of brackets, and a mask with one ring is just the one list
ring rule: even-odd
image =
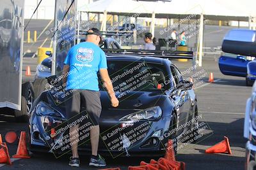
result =
[[[108,72],[115,92],[168,89],[168,85],[164,85],[169,79],[163,64],[108,60]],[[99,85],[100,90],[106,90],[100,78]]]

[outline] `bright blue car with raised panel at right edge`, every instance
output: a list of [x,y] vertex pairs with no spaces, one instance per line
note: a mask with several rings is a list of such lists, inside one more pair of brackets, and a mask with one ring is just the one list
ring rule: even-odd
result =
[[[256,32],[248,29],[232,29],[223,39],[225,55],[219,59],[221,73],[246,78],[246,85],[252,86],[256,79]],[[236,53],[236,54],[234,54]]]

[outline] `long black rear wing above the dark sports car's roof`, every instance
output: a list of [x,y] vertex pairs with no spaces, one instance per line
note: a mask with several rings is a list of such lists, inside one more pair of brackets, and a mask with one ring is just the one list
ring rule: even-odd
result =
[[140,57],[159,57],[163,59],[189,59],[194,60],[193,52],[169,50],[129,50],[129,49],[103,49],[106,55],[133,55]]

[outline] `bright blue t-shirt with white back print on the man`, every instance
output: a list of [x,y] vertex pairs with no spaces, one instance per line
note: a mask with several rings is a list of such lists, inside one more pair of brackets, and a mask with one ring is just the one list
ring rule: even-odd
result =
[[90,42],[79,43],[68,51],[64,64],[68,64],[66,89],[99,91],[97,72],[107,69],[107,59],[103,50]]

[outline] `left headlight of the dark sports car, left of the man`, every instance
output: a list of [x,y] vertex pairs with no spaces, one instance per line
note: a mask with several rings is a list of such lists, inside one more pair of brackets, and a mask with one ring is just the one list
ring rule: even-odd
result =
[[42,101],[40,101],[36,106],[36,115],[61,117],[60,113],[54,111],[50,106],[47,106]]

